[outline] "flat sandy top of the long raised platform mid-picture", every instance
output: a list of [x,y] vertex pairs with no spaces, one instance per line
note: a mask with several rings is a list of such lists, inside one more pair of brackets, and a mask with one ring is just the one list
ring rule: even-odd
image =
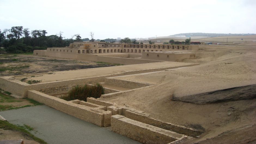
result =
[[[129,71],[141,71],[146,69],[158,69],[158,68],[171,68],[176,66],[186,66],[191,65],[191,63],[178,63],[178,62],[158,62],[158,63],[145,63],[137,65],[124,65],[124,66],[115,66],[115,68],[93,68],[93,69],[80,69],[73,71],[59,71],[52,72],[49,74],[35,74],[34,77],[31,76],[16,76],[16,80],[21,80],[22,78],[28,78],[28,80],[38,80],[41,82],[51,82],[51,81],[61,81],[67,79],[76,79],[76,78],[89,78],[103,75],[113,75],[120,74]],[[65,75],[65,76],[64,76]],[[25,81],[25,82],[26,82]]]

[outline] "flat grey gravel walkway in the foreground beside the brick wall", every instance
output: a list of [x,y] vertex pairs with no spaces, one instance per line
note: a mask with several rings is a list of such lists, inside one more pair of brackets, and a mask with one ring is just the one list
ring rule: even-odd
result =
[[12,124],[33,127],[31,133],[49,144],[140,144],[45,105],[3,111],[0,115]]

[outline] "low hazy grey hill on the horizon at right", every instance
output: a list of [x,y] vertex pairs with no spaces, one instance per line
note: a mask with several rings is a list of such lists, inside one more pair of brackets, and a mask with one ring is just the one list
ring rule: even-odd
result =
[[217,36],[245,36],[245,35],[255,35],[255,33],[202,33],[202,32],[196,32],[196,33],[179,33],[176,35],[170,35],[170,36],[208,36],[208,37],[217,37]]

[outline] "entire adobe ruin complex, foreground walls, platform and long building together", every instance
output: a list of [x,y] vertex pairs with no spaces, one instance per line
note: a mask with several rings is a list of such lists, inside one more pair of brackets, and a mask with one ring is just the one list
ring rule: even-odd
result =
[[[172,44],[115,44],[105,42],[75,42],[66,48],[35,50],[34,55],[75,60],[118,63],[122,66],[57,71],[29,75],[0,77],[0,88],[18,99],[28,97],[81,120],[111,130],[141,143],[175,143],[187,137],[197,137],[203,132],[191,127],[175,125],[150,118],[150,114],[127,106],[95,98],[66,101],[60,99],[77,84],[101,83],[106,93],[101,98],[155,87],[156,83],[129,79],[145,75],[198,65],[180,62],[196,58],[198,45]],[[23,78],[40,81],[28,84]]]

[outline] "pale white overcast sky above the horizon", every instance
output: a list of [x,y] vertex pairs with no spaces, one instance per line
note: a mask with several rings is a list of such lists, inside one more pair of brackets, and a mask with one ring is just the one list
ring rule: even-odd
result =
[[12,26],[95,39],[256,33],[256,0],[0,0],[0,29]]

